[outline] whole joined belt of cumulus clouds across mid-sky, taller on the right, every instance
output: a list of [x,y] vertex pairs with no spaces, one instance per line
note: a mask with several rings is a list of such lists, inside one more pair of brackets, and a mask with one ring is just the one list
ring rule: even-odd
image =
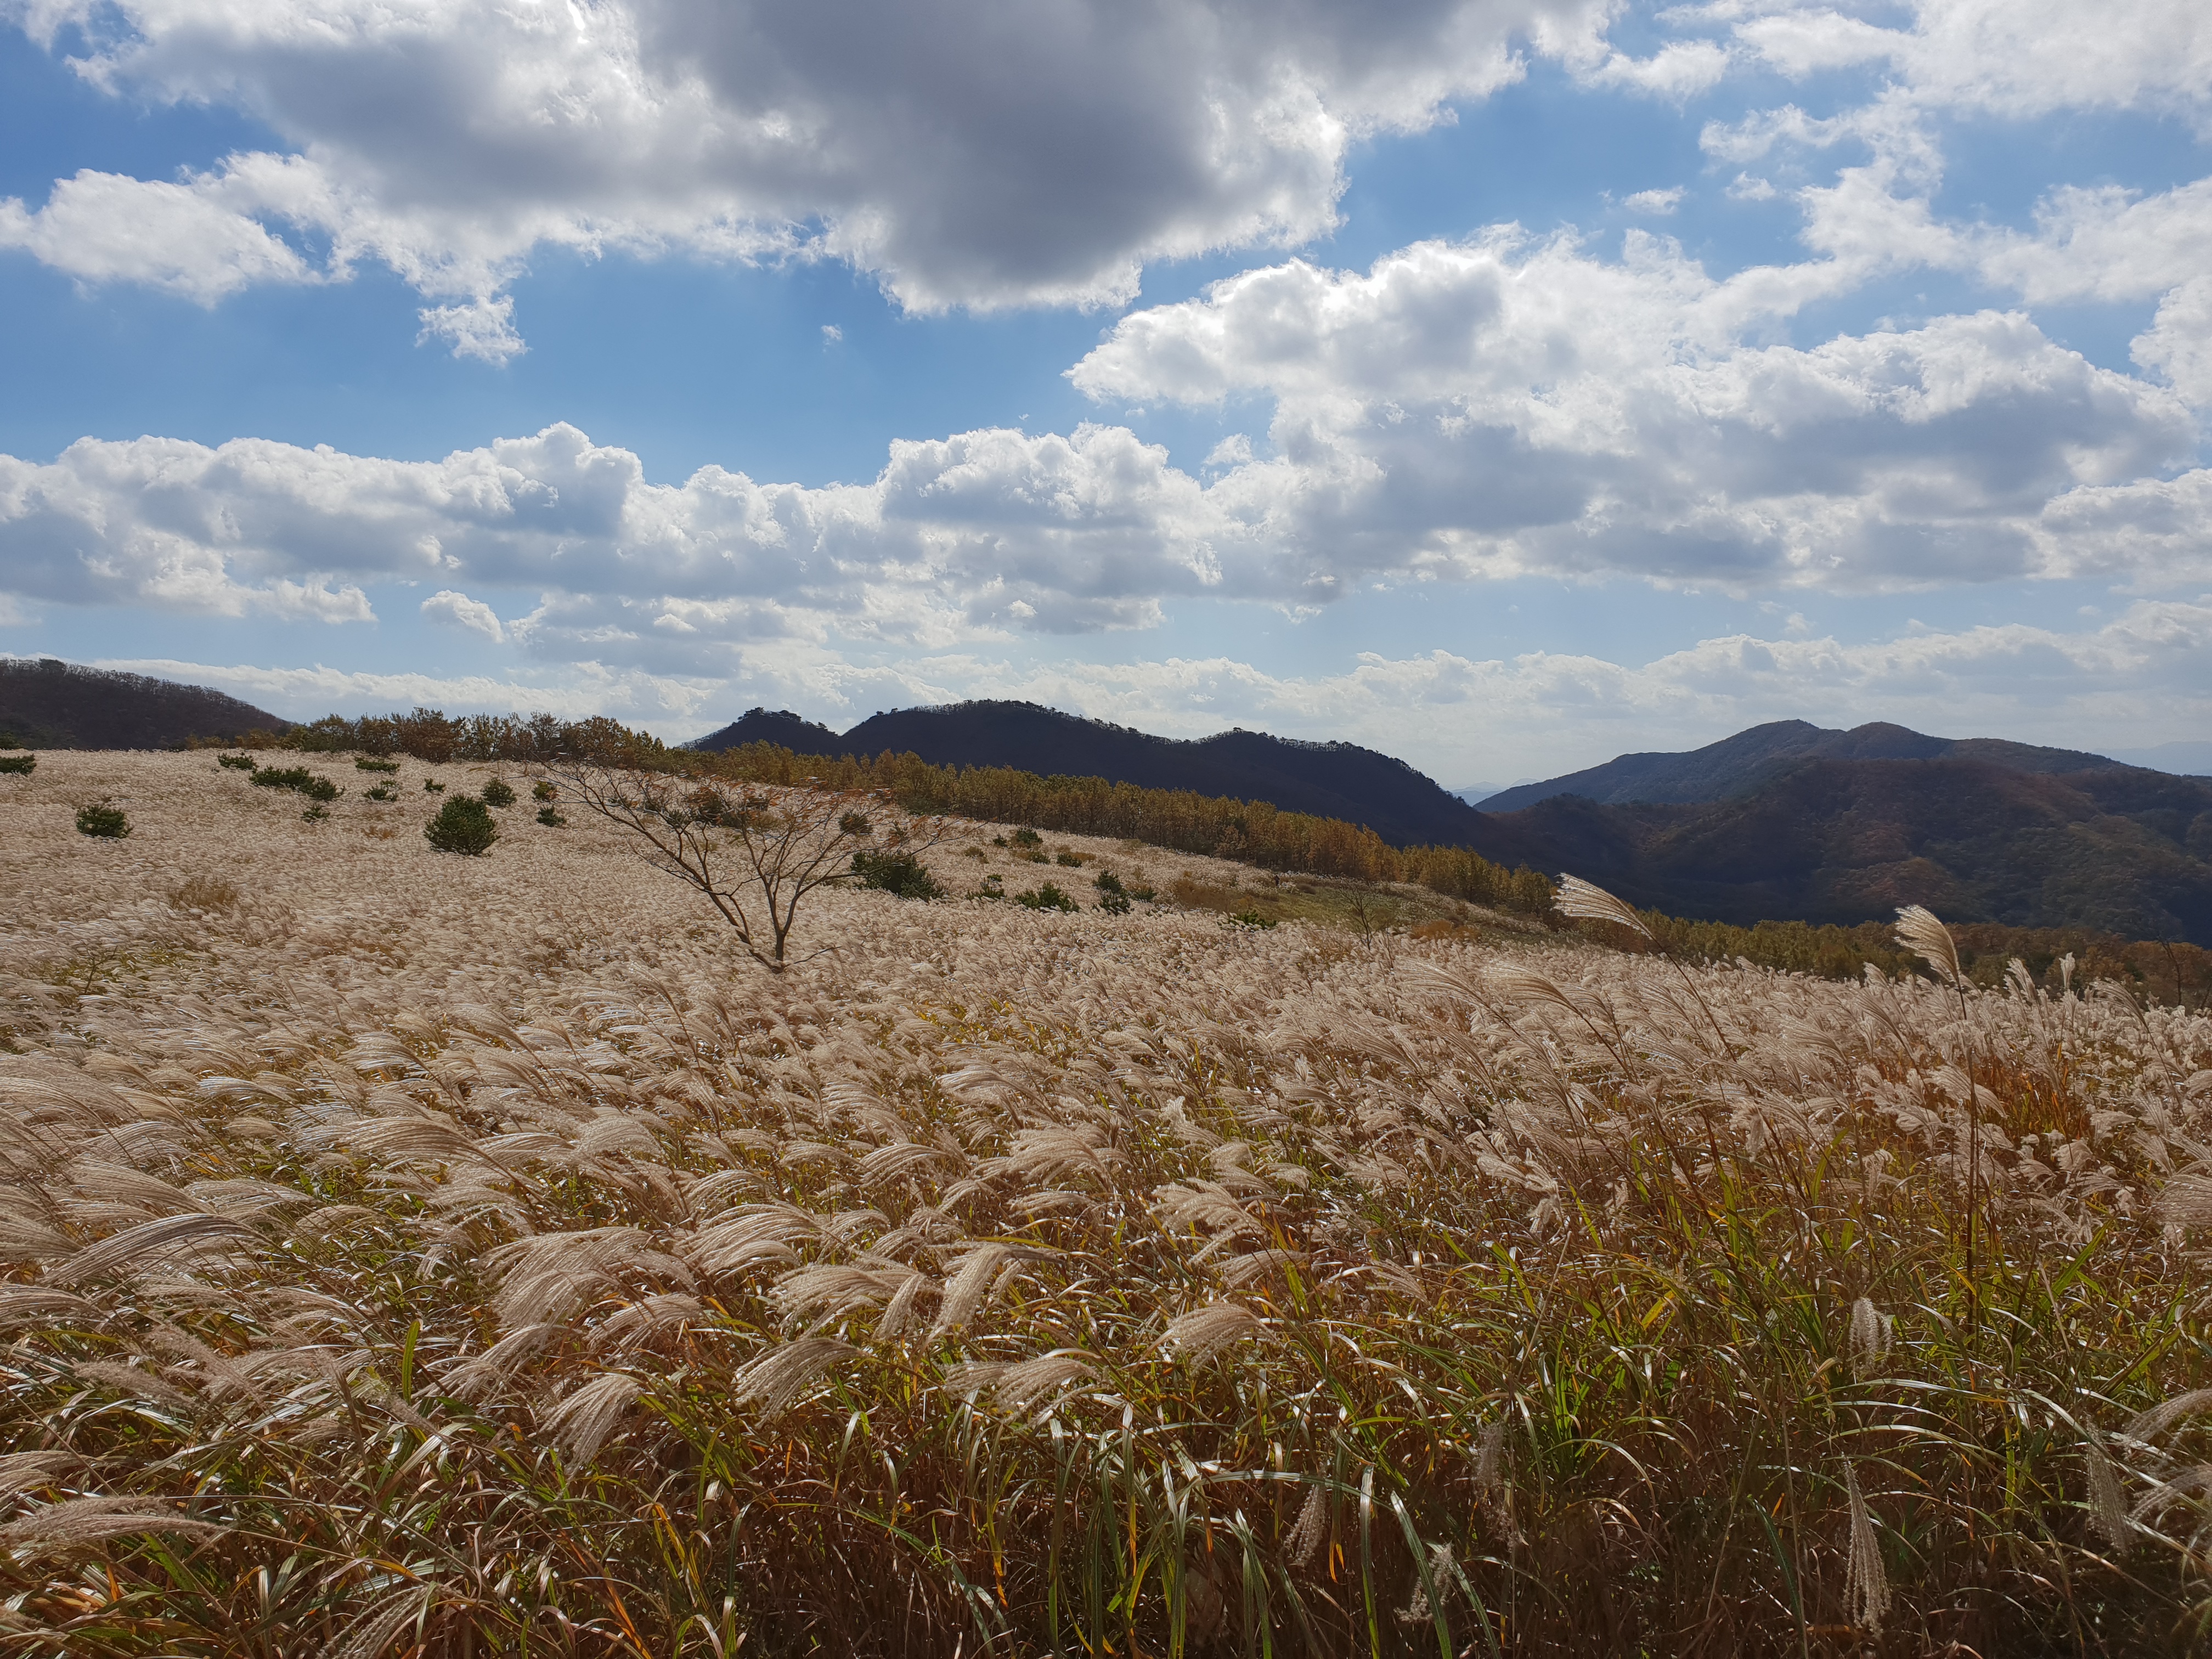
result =
[[[1144,628],[1197,595],[1312,608],[1374,577],[2212,580],[2212,473],[2181,471],[2177,396],[2004,312],[1756,343],[1820,281],[1714,281],[1644,232],[1621,261],[1500,230],[1367,272],[1252,270],[1071,369],[1099,398],[1270,400],[1272,453],[1232,438],[1197,478],[1110,425],[900,440],[825,489],[650,484],[566,425],[438,462],[82,440],[0,458],[0,588],[367,619],[369,588],[409,582],[487,635],[462,584],[535,591],[509,624],[533,653],[712,675],[765,639],[947,650]],[[2159,363],[2199,374],[2183,347]]]

